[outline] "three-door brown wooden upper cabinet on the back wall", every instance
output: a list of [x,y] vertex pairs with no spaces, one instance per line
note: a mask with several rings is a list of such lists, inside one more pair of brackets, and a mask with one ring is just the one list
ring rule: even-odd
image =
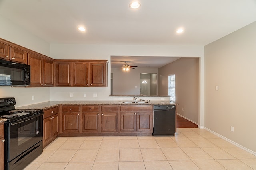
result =
[[56,86],[107,86],[106,60],[57,60]]

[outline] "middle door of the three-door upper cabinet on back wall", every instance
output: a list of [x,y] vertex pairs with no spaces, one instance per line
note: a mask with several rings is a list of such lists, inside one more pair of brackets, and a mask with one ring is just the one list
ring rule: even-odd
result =
[[88,63],[75,62],[74,68],[74,86],[88,86]]

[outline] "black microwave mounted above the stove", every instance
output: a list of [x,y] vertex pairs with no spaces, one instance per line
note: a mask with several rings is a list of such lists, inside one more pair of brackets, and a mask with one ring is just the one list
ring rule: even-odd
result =
[[30,65],[0,59],[0,86],[30,85]]

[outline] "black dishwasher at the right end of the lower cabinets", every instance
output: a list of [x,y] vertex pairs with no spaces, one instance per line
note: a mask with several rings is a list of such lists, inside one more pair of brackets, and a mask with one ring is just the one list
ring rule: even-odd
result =
[[154,105],[152,135],[175,135],[175,105]]

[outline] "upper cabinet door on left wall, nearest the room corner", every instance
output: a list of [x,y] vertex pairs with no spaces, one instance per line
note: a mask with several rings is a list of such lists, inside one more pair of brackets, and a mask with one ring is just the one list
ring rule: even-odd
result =
[[44,86],[53,86],[54,83],[54,61],[44,59]]

